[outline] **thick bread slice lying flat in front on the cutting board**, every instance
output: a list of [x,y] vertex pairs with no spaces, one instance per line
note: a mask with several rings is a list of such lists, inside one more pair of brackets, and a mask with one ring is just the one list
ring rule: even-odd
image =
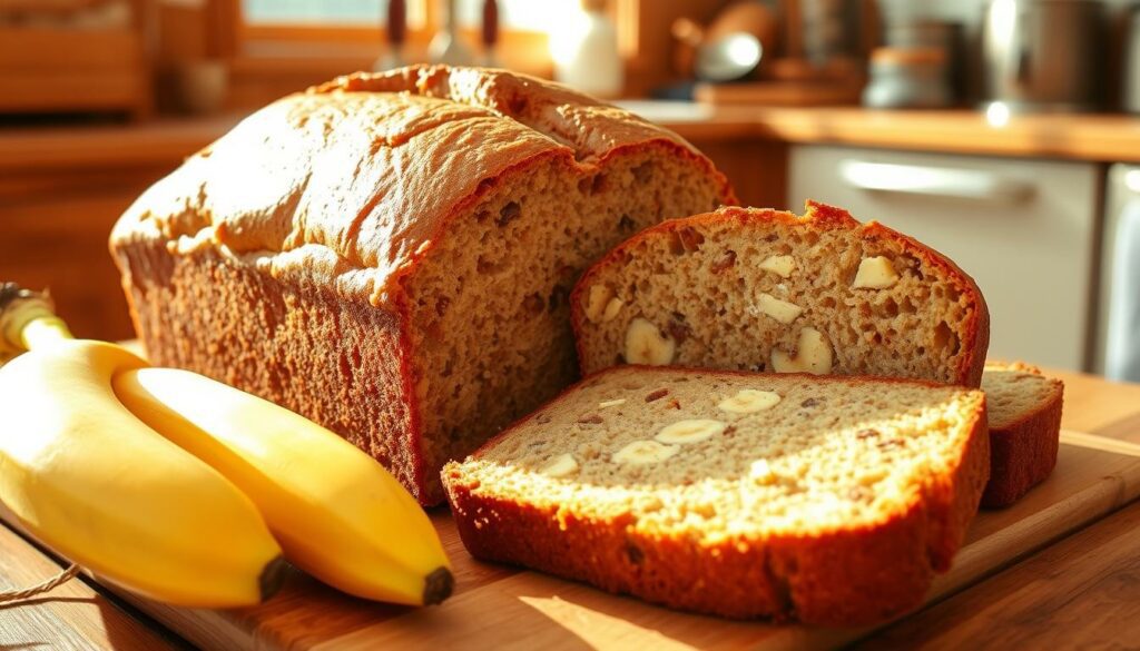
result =
[[915,607],[977,512],[980,391],[621,366],[443,483],[478,558],[668,607],[825,625]]

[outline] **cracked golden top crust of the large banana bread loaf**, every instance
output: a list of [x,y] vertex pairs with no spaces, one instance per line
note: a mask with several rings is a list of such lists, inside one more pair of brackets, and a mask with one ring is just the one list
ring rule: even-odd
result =
[[665,146],[712,164],[620,108],[505,71],[410,66],[285,97],[153,186],[112,234],[213,247],[277,275],[388,303],[464,205],[544,158],[605,163]]

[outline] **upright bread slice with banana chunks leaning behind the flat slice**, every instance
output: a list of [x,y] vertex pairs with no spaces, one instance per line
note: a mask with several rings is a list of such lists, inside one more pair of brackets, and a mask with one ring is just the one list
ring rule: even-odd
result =
[[585,374],[622,363],[915,377],[977,386],[990,315],[974,280],[880,223],[725,207],[657,225],[571,296]]

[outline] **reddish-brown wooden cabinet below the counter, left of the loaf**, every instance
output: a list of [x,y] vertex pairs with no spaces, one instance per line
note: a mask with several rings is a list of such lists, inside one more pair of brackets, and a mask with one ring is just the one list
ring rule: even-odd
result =
[[0,280],[50,288],[78,336],[133,336],[111,228],[235,121],[0,130]]

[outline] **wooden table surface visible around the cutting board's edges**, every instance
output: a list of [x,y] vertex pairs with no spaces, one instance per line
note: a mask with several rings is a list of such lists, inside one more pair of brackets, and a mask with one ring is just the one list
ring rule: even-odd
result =
[[[1140,444],[1140,385],[1057,373],[1066,429]],[[1122,448],[1140,455],[1140,447]],[[59,564],[0,527],[0,586],[25,586]],[[1121,646],[1140,640],[1140,502],[1054,542],[974,586],[860,642],[865,649]],[[447,608],[446,605],[442,608]],[[96,649],[185,643],[85,577],[30,602],[0,605],[0,648]]]

